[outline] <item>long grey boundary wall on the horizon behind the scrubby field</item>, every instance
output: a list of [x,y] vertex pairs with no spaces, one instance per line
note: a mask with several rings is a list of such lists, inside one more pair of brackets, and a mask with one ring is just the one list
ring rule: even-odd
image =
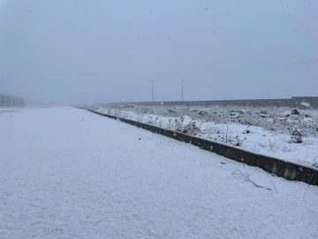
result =
[[[251,100],[214,100],[214,101],[165,101],[165,102],[131,102],[121,104],[136,105],[165,105],[165,106],[251,106],[251,107],[289,107],[289,108],[307,108],[302,103],[310,104],[313,108],[318,108],[318,97],[292,97],[290,99],[251,99]],[[96,104],[107,105],[107,104]]]

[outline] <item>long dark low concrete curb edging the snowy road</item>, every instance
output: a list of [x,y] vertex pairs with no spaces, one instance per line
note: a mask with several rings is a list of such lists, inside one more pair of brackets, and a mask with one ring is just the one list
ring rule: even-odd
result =
[[133,120],[126,120],[123,118],[118,118],[113,115],[109,115],[109,114],[105,114],[101,112],[95,112],[89,109],[85,109],[85,110],[89,112],[93,112],[95,114],[99,114],[104,117],[108,117],[110,119],[120,120],[127,124],[130,124],[136,127],[141,127],[153,133],[164,135],[184,143],[191,143],[195,146],[200,147],[203,150],[214,152],[225,158],[231,158],[235,161],[244,163],[248,166],[260,167],[266,172],[273,173],[278,177],[283,177],[290,181],[303,181],[308,184],[318,186],[318,170],[315,170],[314,168],[310,168],[307,166],[299,166],[297,164],[285,162],[284,160],[281,160],[278,158],[271,158],[268,156],[255,154],[253,152],[240,150],[239,148],[225,145],[223,143],[211,142],[205,139],[197,138],[192,135],[182,134],[182,133],[175,132],[169,129],[155,127],[152,125],[140,123]]

